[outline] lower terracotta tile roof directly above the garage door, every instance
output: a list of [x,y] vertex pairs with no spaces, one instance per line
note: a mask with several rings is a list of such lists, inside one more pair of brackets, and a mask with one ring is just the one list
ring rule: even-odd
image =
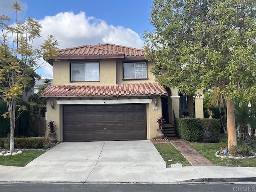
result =
[[159,83],[127,83],[102,85],[49,85],[39,97],[98,97],[98,96],[150,96],[165,95],[167,92]]

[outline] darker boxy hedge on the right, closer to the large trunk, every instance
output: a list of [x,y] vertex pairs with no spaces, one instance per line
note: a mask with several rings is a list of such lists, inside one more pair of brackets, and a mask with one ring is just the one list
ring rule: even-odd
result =
[[218,119],[200,119],[200,131],[204,142],[220,141],[220,121]]

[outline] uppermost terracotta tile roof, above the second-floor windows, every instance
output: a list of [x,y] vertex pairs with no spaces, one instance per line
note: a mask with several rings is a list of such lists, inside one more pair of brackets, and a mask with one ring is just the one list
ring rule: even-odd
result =
[[83,45],[58,50],[58,56],[145,56],[143,49],[114,44]]

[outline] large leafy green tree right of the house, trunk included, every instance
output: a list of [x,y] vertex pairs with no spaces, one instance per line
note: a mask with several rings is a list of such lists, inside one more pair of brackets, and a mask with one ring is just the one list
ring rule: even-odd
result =
[[146,58],[162,85],[184,93],[218,87],[227,106],[228,149],[236,145],[234,100],[256,92],[255,0],[154,0]]

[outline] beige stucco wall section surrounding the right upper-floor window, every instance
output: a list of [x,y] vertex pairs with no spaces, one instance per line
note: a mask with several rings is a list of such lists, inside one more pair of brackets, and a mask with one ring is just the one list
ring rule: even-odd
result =
[[152,62],[148,62],[148,79],[146,80],[123,80],[123,63],[122,60],[116,60],[116,83],[134,83],[134,82],[154,82],[155,76],[149,72]]

